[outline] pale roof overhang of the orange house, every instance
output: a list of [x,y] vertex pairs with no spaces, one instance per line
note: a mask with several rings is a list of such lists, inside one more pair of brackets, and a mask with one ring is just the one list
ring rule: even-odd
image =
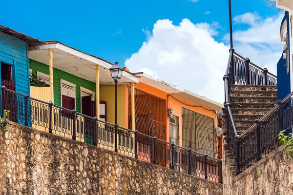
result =
[[194,94],[186,89],[179,87],[178,85],[173,85],[167,83],[155,76],[149,76],[146,73],[133,73],[139,76],[139,82],[145,83],[157,89],[160,89],[168,94],[171,94],[173,97],[182,98],[189,102],[192,102],[196,105],[200,105],[210,110],[219,111],[224,107],[223,104],[210,100],[208,98],[202,97],[200,95]]

